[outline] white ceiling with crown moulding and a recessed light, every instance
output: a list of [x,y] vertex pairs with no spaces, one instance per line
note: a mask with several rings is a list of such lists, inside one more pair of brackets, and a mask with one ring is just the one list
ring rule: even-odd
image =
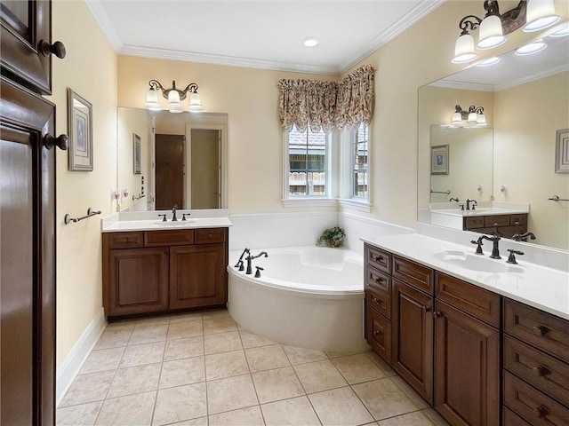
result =
[[85,3],[120,54],[339,75],[444,0]]

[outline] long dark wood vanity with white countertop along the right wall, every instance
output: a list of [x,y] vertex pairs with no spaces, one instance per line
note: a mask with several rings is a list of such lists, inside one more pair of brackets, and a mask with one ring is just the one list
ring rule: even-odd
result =
[[566,272],[416,234],[364,241],[366,339],[447,422],[567,424]]

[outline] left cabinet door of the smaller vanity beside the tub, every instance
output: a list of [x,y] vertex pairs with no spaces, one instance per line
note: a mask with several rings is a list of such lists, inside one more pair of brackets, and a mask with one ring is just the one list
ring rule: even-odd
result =
[[168,248],[108,251],[108,316],[168,309]]

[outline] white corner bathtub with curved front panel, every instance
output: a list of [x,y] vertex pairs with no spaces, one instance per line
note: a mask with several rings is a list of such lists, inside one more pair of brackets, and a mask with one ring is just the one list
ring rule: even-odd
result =
[[[261,250],[251,250],[257,255]],[[228,312],[237,324],[276,343],[320,351],[363,351],[363,256],[343,248],[271,248],[252,274],[229,254]],[[255,266],[264,268],[254,278]],[[246,262],[245,262],[246,269]]]

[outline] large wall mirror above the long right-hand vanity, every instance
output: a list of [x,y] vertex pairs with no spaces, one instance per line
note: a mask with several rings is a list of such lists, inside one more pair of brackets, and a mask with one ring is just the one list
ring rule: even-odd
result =
[[[441,225],[431,213],[438,204],[459,209],[452,198],[524,205],[532,243],[569,249],[569,201],[550,200],[569,198],[569,173],[555,165],[557,130],[569,128],[569,37],[545,42],[545,51],[507,52],[420,88],[419,222]],[[456,105],[483,106],[487,126],[450,127]]]

